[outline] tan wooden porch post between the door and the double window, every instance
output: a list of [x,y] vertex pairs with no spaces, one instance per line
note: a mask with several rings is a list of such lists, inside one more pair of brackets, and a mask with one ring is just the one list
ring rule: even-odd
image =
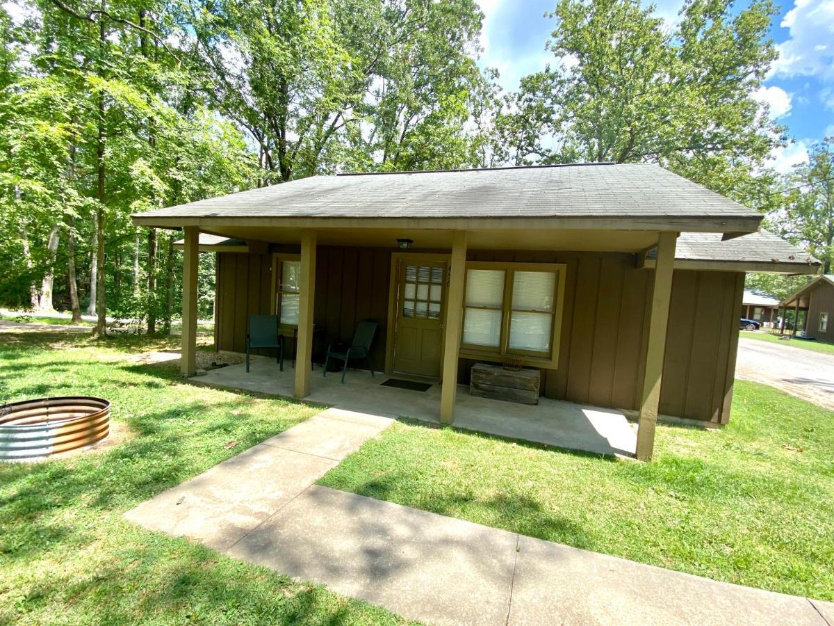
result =
[[455,393],[458,389],[458,353],[464,320],[464,282],[466,278],[466,233],[452,234],[449,263],[449,289],[446,293],[446,323],[443,346],[443,385],[440,395],[440,422],[455,420]]

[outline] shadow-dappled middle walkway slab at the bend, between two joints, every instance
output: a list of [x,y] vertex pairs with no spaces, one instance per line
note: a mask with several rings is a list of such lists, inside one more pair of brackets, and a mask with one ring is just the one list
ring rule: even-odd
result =
[[428,623],[505,623],[517,536],[310,487],[229,554]]

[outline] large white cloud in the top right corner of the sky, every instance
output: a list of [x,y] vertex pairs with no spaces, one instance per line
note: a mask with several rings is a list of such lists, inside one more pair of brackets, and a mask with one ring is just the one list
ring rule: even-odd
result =
[[834,79],[834,0],[795,0],[781,26],[791,35],[776,45],[772,72]]

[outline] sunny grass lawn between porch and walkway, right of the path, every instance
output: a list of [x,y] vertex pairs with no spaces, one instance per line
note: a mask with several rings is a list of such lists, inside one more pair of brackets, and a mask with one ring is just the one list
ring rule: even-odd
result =
[[834,600],[834,412],[736,382],[723,430],[606,460],[398,423],[319,484],[663,568]]

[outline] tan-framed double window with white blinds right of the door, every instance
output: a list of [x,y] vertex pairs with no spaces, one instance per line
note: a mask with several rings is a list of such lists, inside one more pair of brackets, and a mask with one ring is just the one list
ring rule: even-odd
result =
[[470,263],[461,351],[468,356],[558,356],[564,265]]

